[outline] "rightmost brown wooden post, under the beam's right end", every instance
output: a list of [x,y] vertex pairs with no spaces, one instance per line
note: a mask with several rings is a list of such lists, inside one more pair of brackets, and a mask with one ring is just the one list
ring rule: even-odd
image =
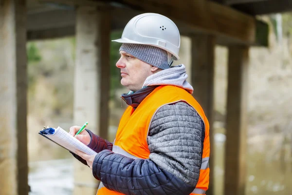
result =
[[224,195],[245,193],[248,51],[229,47]]

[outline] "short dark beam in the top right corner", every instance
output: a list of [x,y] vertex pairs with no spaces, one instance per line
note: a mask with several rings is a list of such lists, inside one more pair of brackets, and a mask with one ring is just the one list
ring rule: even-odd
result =
[[291,0],[268,0],[252,3],[244,3],[233,6],[235,9],[256,16],[292,11]]

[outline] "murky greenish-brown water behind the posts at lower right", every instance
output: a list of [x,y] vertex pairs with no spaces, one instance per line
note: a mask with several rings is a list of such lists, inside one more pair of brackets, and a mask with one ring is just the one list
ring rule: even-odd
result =
[[[224,195],[224,137],[215,135],[215,195]],[[289,147],[275,150],[278,145],[275,140],[276,135],[248,142],[246,195],[292,195],[292,159],[288,157],[291,150]]]

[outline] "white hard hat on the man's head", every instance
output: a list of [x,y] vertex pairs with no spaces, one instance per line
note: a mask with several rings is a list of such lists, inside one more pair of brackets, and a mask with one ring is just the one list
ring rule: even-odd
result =
[[178,27],[167,17],[146,13],[132,18],[126,25],[120,43],[152,45],[166,50],[174,60],[179,60],[181,37]]

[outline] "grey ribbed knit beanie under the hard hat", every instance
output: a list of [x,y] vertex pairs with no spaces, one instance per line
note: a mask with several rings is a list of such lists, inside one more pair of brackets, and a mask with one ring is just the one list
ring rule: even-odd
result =
[[167,52],[159,47],[142,44],[123,43],[120,51],[127,52],[136,59],[140,59],[147,64],[160,69],[169,68],[167,62]]

